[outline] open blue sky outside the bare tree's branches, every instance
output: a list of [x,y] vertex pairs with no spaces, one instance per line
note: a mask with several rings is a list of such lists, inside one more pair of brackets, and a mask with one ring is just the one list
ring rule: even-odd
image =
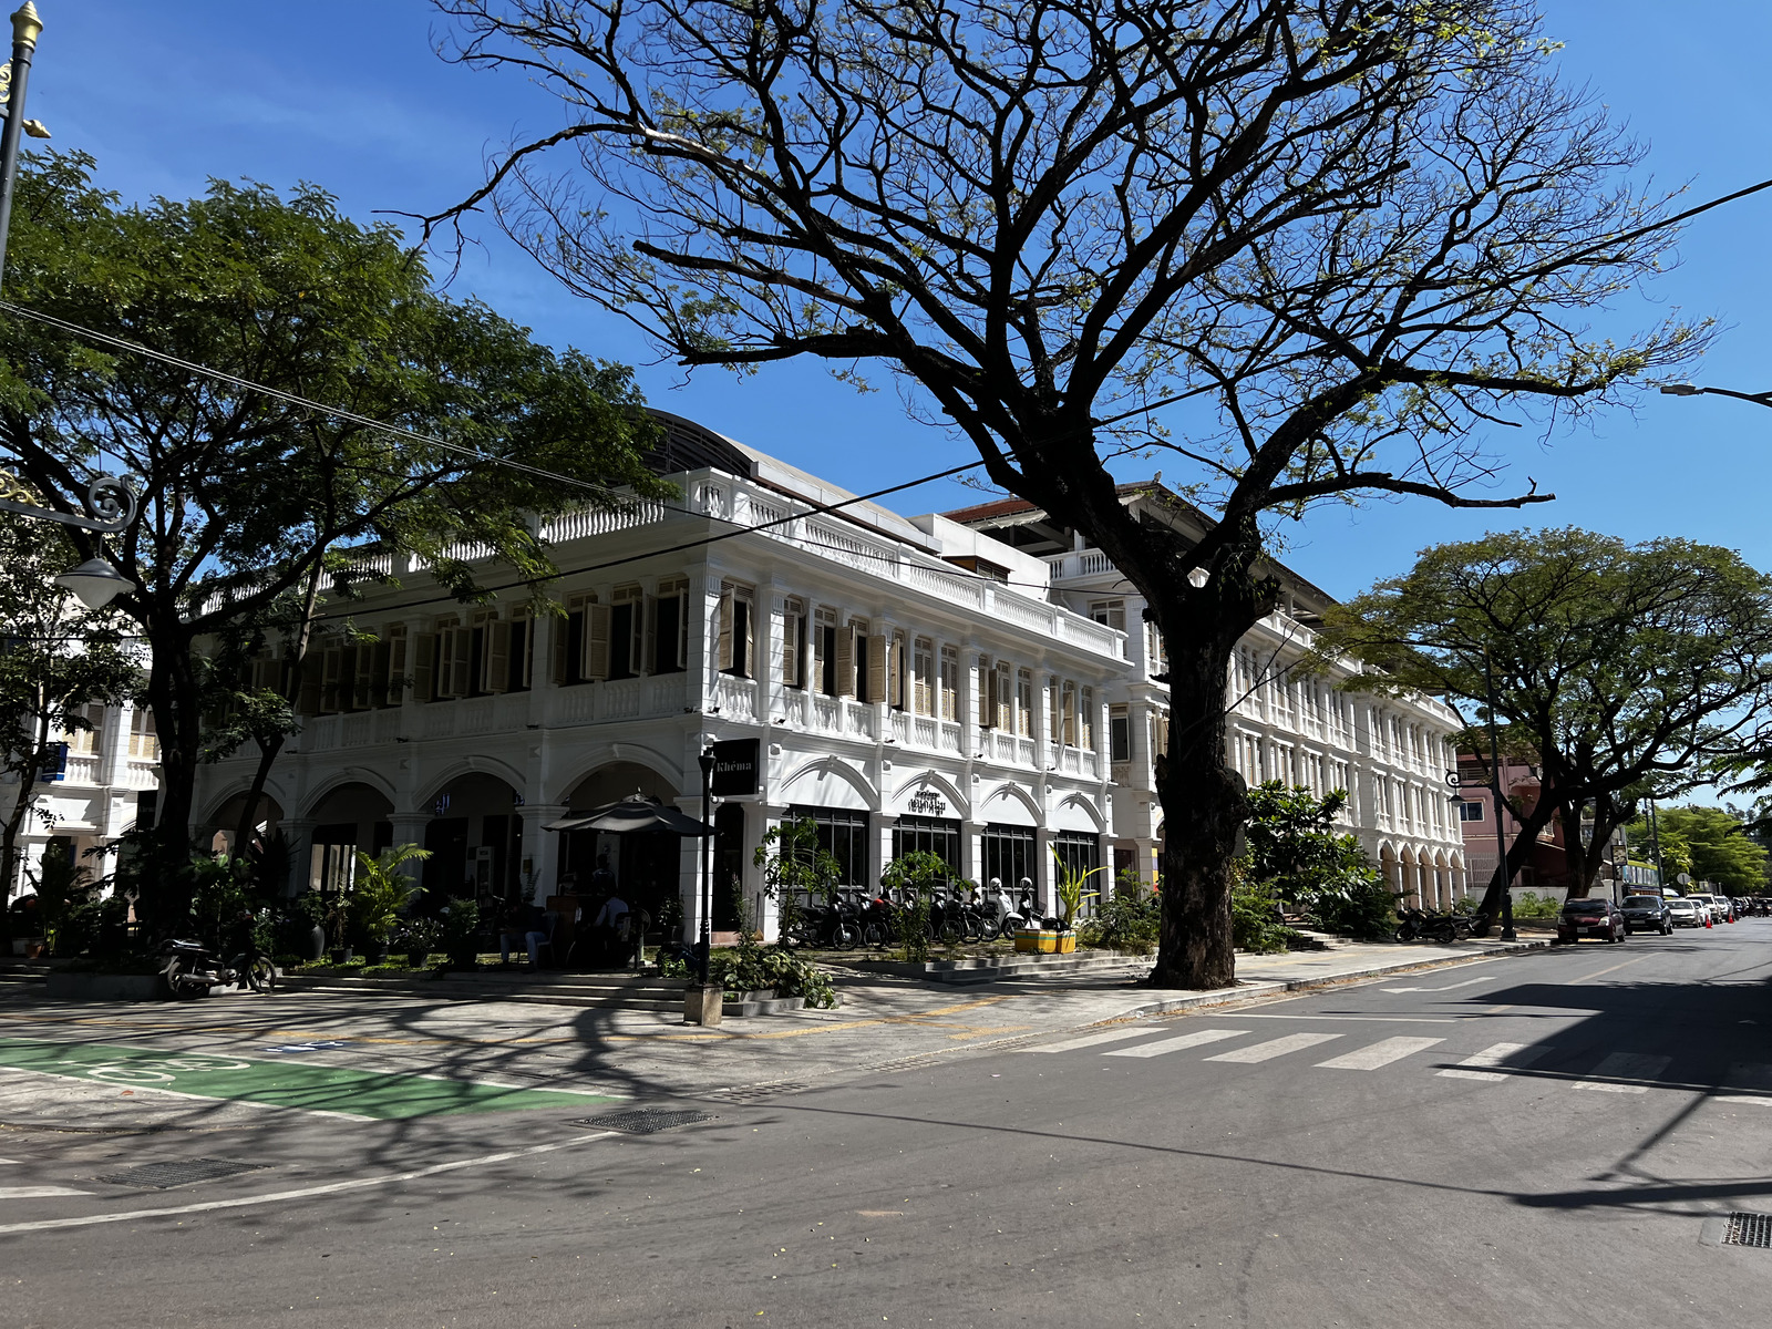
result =
[[[427,211],[480,181],[484,154],[514,133],[549,128],[551,101],[509,74],[443,64],[425,0],[41,0],[46,28],[30,113],[60,147],[99,159],[101,183],[128,198],[198,193],[211,175],[275,186],[314,181],[367,220]],[[1650,170],[1692,197],[1772,177],[1772,5],[1765,0],[1545,0],[1568,78],[1588,83],[1652,144]],[[1772,191],[1699,220],[1682,266],[1657,284],[1664,307],[1715,315],[1724,335],[1699,381],[1772,388]],[[626,324],[553,284],[491,227],[454,291],[473,292],[555,344],[641,363],[652,353]],[[858,397],[812,367],[746,379],[702,372],[682,386],[670,365],[641,369],[647,395],[854,491],[968,459],[962,445],[902,416],[888,388]],[[1512,432],[1512,431],[1510,431]],[[1648,397],[1593,429],[1501,439],[1513,477],[1558,501],[1526,516],[1455,514],[1421,503],[1320,510],[1288,528],[1286,560],[1348,595],[1405,569],[1421,546],[1517,525],[1581,525],[1630,540],[1685,535],[1772,567],[1767,452],[1772,411],[1722,399]],[[1152,462],[1159,466],[1161,462]],[[973,501],[930,486],[907,512]]]

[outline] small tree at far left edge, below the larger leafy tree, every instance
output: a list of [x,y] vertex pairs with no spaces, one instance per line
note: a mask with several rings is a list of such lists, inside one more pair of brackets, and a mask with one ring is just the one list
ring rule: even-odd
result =
[[0,514],[0,771],[11,780],[0,820],[0,939],[18,882],[21,838],[37,813],[39,776],[67,735],[90,734],[87,707],[126,700],[140,666],[117,617],[90,613],[55,585],[74,558],[57,526]]

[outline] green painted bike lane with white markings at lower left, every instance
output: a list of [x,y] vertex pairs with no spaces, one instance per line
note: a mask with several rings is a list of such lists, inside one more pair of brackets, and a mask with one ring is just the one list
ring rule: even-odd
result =
[[0,1067],[115,1084],[124,1090],[172,1090],[198,1099],[262,1102],[379,1122],[617,1102],[606,1093],[525,1090],[353,1067],[259,1061],[227,1053],[165,1053],[25,1038],[0,1038]]

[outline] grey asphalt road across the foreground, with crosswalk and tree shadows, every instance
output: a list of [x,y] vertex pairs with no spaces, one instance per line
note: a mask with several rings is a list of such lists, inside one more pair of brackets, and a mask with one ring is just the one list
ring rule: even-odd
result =
[[[0,1324],[1765,1324],[1772,1249],[1701,1235],[1772,1212],[1768,982],[1749,920],[647,1136],[572,1125],[608,1102],[0,1131]],[[97,1180],[198,1157],[257,1168]]]

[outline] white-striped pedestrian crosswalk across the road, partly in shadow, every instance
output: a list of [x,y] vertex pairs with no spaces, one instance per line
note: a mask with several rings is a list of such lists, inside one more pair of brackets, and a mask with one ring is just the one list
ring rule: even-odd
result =
[[[1099,1049],[1099,1056],[1104,1058],[1152,1060],[1193,1049],[1209,1049],[1216,1044],[1233,1044],[1239,1038],[1251,1038],[1255,1030],[1214,1024],[1201,1030],[1189,1030],[1187,1033],[1173,1033],[1166,1038],[1150,1038],[1154,1033],[1159,1033],[1159,1030],[1152,1026],[1131,1024],[1113,1030],[1099,1030],[1095,1033],[1065,1038],[1042,1047],[1030,1047],[1028,1051],[1053,1054]],[[1324,1047],[1325,1044],[1341,1042],[1345,1045],[1345,1040],[1347,1035],[1343,1033],[1286,1033],[1278,1038],[1262,1038],[1258,1042],[1244,1042],[1235,1047],[1203,1053],[1198,1060],[1226,1065],[1263,1065],[1267,1061],[1278,1061],[1279,1058]],[[1386,1067],[1403,1063],[1409,1058],[1419,1058],[1423,1053],[1442,1047],[1442,1044],[1446,1044],[1446,1038],[1442,1037],[1380,1038],[1373,1044],[1336,1053],[1322,1061],[1311,1061],[1311,1069],[1382,1070]],[[1570,1051],[1574,1053],[1574,1049]],[[1667,1083],[1673,1086],[1690,1086],[1694,1083],[1690,1076],[1678,1081],[1664,1079],[1667,1067],[1673,1065],[1673,1058],[1669,1056],[1653,1056],[1646,1053],[1607,1053],[1598,1061],[1593,1061],[1591,1054],[1581,1056],[1575,1053],[1568,1058],[1574,1065],[1565,1069],[1558,1067],[1558,1058],[1550,1056],[1552,1053],[1556,1053],[1556,1049],[1547,1044],[1490,1044],[1488,1047],[1462,1056],[1449,1065],[1444,1060],[1434,1058],[1437,1061],[1434,1074],[1446,1079],[1464,1079],[1488,1084],[1529,1076],[1535,1079],[1563,1081],[1568,1088],[1600,1093],[1648,1093],[1657,1083]],[[1448,1060],[1449,1056],[1451,1054],[1444,1051],[1439,1054],[1439,1058]],[[1538,1072],[1533,1076],[1531,1072],[1535,1072],[1538,1063],[1547,1058],[1550,1058],[1552,1072]],[[1575,1076],[1579,1076],[1579,1079]],[[1721,1099],[1726,1099],[1731,1104],[1772,1108],[1772,1093],[1768,1093],[1772,1092],[1772,1065],[1737,1061],[1729,1065],[1728,1074],[1722,1077],[1721,1084],[1717,1084],[1715,1092]]]

